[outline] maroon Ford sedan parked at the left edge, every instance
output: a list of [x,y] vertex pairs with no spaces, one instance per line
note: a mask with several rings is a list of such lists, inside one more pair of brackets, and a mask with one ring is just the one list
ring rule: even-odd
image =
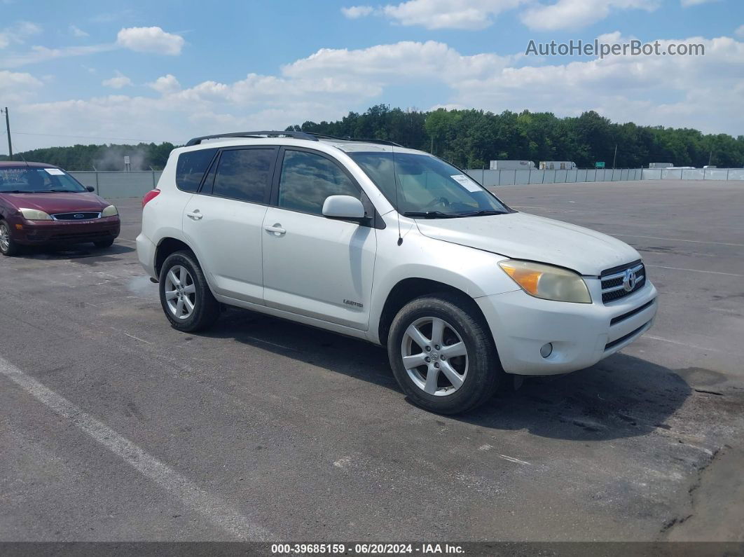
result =
[[51,164],[0,162],[0,252],[83,242],[108,248],[119,235],[119,213],[92,191]]

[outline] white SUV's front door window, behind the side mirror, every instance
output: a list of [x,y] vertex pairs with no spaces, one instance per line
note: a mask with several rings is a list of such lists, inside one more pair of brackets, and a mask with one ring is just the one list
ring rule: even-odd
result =
[[328,196],[361,193],[333,161],[312,152],[285,151],[279,181],[279,207],[321,215]]

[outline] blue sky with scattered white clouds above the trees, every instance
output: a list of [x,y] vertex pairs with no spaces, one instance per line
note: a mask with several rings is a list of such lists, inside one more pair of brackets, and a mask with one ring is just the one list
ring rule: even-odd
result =
[[[283,129],[376,103],[744,134],[741,0],[0,0],[16,150]],[[705,56],[525,57],[536,42]],[[4,138],[0,152],[5,151]]]

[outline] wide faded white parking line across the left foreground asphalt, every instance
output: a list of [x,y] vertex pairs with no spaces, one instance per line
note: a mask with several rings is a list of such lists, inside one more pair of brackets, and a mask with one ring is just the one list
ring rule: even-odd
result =
[[266,529],[251,522],[237,509],[205,492],[167,464],[148,454],[126,437],[122,437],[109,426],[89,416],[68,399],[45,387],[44,384],[26,375],[3,358],[0,358],[0,373],[228,534],[240,540],[269,537]]

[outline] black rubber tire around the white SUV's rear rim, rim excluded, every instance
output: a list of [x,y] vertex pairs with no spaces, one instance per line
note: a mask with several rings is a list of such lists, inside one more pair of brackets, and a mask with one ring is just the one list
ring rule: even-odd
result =
[[[168,272],[177,266],[186,268],[195,287],[193,292],[193,311],[187,318],[183,319],[176,318],[176,315],[174,315],[170,306],[168,306],[165,294]],[[158,290],[160,292],[160,303],[163,307],[163,312],[174,329],[184,332],[201,331],[211,326],[219,316],[219,302],[214,299],[212,291],[209,289],[207,280],[204,277],[204,272],[199,266],[199,262],[196,261],[196,257],[190,251],[176,251],[167,257],[160,269]]]

